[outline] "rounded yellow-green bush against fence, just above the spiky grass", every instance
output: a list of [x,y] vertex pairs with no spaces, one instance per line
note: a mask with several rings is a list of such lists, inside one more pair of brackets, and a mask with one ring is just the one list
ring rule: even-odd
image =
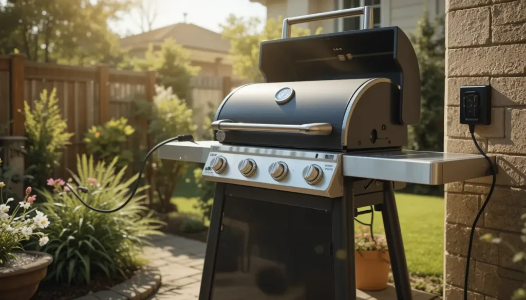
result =
[[133,135],[135,129],[128,125],[128,119],[112,119],[102,126],[93,126],[86,133],[86,151],[96,160],[110,163],[118,157],[116,167],[122,168],[133,162],[133,152],[125,149],[128,137]]

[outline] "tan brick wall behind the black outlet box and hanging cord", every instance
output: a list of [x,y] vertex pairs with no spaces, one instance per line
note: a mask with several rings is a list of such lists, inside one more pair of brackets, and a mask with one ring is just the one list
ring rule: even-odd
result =
[[[474,240],[470,297],[508,300],[526,276],[506,246],[479,236],[492,233],[524,249],[519,233],[526,212],[526,0],[447,0],[446,24],[444,148],[478,153],[468,126],[459,124],[459,89],[491,84],[492,124],[478,126],[476,136],[499,165],[498,186]],[[488,177],[446,185],[446,300],[462,299],[470,226],[490,183]]]

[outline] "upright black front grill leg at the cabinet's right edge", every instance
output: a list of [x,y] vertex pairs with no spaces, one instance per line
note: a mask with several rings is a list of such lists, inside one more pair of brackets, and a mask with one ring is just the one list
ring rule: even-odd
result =
[[334,299],[356,300],[355,205],[353,179],[343,178],[343,197],[332,201]]

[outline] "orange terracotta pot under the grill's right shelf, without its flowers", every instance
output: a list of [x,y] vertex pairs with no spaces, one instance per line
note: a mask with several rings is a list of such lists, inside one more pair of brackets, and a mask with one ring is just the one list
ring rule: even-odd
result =
[[363,291],[379,291],[387,287],[389,278],[389,252],[355,251],[356,288]]

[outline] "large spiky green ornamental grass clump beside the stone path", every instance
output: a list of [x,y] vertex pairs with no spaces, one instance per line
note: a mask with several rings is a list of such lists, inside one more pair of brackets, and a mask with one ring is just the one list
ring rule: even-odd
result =
[[[72,176],[88,192],[82,193],[84,201],[100,209],[111,209],[127,199],[130,184],[137,175],[124,181],[126,167],[118,172],[117,159],[111,163],[95,163],[84,154],[77,158],[77,172]],[[72,193],[63,189],[64,182],[49,180],[55,192],[44,191],[46,203],[42,212],[48,215],[50,225],[44,231],[51,237],[48,244],[36,250],[53,255],[53,265],[47,278],[63,284],[89,283],[95,273],[108,276],[126,271],[137,263],[145,237],[160,234],[162,224],[152,217],[143,205],[144,195],[135,196],[128,205],[115,213],[99,213],[86,208]],[[148,187],[141,187],[144,191]]]

